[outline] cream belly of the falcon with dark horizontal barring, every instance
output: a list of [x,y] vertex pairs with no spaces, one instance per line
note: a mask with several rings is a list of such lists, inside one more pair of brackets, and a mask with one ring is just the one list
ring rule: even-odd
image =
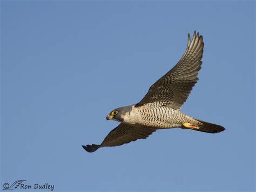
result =
[[179,110],[169,108],[167,106],[139,107],[139,113],[143,125],[158,127],[159,129],[181,127],[182,123],[187,122],[190,119]]

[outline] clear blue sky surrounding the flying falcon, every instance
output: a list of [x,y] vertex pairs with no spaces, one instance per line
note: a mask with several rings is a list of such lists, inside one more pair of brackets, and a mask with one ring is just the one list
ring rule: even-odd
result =
[[[1,189],[253,191],[254,12],[253,1],[2,1]],[[107,113],[139,102],[194,30],[203,66],[181,110],[226,131],[158,130],[87,153],[118,125]]]

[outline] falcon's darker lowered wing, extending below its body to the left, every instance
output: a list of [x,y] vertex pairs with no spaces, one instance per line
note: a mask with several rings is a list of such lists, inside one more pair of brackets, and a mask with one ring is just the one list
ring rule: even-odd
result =
[[132,126],[120,123],[115,129],[107,134],[106,138],[100,145],[82,145],[87,152],[95,152],[99,147],[113,147],[136,141],[137,139],[146,139],[156,129],[147,126]]

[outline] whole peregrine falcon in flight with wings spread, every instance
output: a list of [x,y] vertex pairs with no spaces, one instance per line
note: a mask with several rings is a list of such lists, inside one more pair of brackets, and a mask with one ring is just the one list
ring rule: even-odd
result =
[[158,129],[179,127],[206,133],[219,133],[225,128],[204,122],[181,112],[194,84],[203,58],[203,36],[194,32],[192,40],[188,34],[186,52],[169,72],[154,83],[145,97],[137,104],[114,109],[107,120],[120,124],[110,131],[100,145],[83,145],[87,152],[100,147],[119,146],[137,139],[146,139]]

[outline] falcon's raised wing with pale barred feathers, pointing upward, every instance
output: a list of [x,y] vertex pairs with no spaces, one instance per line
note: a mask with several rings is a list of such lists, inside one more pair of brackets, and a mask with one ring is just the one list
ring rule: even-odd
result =
[[183,57],[168,73],[154,83],[146,96],[136,106],[170,106],[180,110],[185,103],[194,84],[198,81],[198,72],[201,68],[203,57],[203,36],[194,32],[192,41],[188,34],[186,52]]

